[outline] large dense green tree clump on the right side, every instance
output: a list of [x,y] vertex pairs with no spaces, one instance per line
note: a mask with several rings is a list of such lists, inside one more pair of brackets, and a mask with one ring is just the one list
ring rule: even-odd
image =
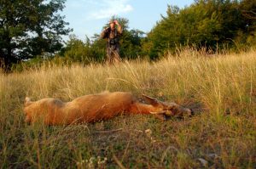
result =
[[213,50],[239,43],[251,45],[255,39],[255,1],[198,0],[183,9],[169,5],[166,16],[147,38],[143,46],[152,59],[177,45]]

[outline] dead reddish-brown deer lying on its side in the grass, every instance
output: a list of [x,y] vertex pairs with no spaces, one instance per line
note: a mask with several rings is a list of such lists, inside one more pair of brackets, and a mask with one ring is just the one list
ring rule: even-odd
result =
[[95,122],[125,115],[155,115],[166,120],[172,115],[192,115],[192,110],[175,103],[164,103],[143,95],[148,104],[140,103],[131,93],[114,92],[81,96],[71,102],[60,99],[41,99],[32,102],[26,98],[24,113],[26,122],[43,120],[46,125],[68,125],[73,123]]

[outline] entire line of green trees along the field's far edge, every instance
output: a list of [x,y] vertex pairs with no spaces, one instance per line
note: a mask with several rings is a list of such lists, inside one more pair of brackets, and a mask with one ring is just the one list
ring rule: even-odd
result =
[[[61,48],[61,35],[70,31],[57,11],[65,0],[0,0],[0,57],[6,65],[19,59],[42,54],[56,54],[61,60],[103,62],[107,42],[95,34],[83,40],[70,36]],[[46,3],[48,2],[48,3]],[[123,59],[149,57],[158,59],[177,47],[191,46],[221,49],[247,48],[256,45],[256,1],[254,0],[195,0],[189,7],[167,6],[148,34],[129,28],[129,20],[119,20],[124,31],[119,38]],[[102,30],[109,23],[102,26]]]

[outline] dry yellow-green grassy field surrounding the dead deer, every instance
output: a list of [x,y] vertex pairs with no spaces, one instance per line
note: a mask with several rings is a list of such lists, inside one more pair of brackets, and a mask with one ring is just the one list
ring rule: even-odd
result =
[[[183,51],[157,63],[45,64],[0,73],[3,168],[255,168],[256,51],[204,57]],[[63,127],[24,123],[26,96],[64,101],[102,91],[142,93],[195,110],[161,122],[152,115]]]

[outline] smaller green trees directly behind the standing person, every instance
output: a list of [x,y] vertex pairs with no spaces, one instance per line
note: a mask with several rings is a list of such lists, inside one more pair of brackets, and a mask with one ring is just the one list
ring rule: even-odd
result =
[[[123,28],[123,34],[119,38],[120,42],[120,56],[123,59],[136,59],[142,54],[142,41],[143,31],[129,30],[129,20],[125,18],[119,18],[113,16],[110,20],[118,20],[119,24]],[[108,27],[109,24],[102,26],[102,30]],[[79,40],[77,37],[70,37],[67,42],[67,47],[64,48],[64,53],[61,56],[66,57],[72,61],[82,61],[88,63],[88,61],[103,62],[106,59],[106,47],[107,42],[102,39],[99,34],[95,34],[91,40],[86,37],[85,42]],[[87,60],[87,61],[86,61]]]

